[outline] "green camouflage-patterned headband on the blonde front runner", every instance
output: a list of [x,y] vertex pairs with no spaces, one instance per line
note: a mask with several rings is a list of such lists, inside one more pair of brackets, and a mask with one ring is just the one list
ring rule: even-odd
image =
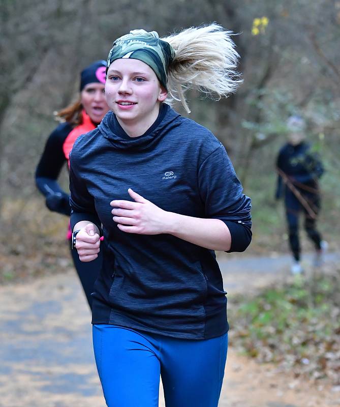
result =
[[167,89],[167,72],[175,56],[172,46],[159,38],[156,31],[133,30],[114,43],[107,58],[106,73],[113,61],[132,58],[148,65]]

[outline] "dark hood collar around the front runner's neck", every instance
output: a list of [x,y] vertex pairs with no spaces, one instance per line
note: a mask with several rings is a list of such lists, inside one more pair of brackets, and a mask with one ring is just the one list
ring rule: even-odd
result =
[[[98,126],[98,130],[107,138],[113,146],[118,150],[144,150],[154,143],[157,143],[165,134],[162,130],[169,130],[173,126],[179,124],[178,118],[180,114],[172,109],[169,105],[165,104],[166,112],[163,120],[158,126],[148,133],[139,137],[130,137],[129,139],[123,138],[119,135],[121,129],[117,126],[117,119],[115,114],[110,110],[104,116],[102,122]],[[152,127],[152,126],[151,126]]]

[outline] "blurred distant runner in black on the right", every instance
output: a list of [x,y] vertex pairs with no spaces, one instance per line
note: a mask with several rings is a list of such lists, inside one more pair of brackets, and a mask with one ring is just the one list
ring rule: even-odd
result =
[[318,155],[305,141],[305,122],[297,115],[288,119],[288,143],[282,147],[276,160],[278,172],[276,199],[284,196],[288,223],[289,244],[293,254],[292,274],[302,272],[301,249],[298,236],[298,215],[304,215],[304,229],[316,249],[315,266],[322,263],[327,248],[316,221],[320,211],[318,179],[324,169]]

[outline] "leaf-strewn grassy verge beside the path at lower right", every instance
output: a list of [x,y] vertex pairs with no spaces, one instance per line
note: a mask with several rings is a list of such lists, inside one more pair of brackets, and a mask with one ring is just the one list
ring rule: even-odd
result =
[[340,269],[233,298],[230,342],[260,362],[295,376],[340,385]]

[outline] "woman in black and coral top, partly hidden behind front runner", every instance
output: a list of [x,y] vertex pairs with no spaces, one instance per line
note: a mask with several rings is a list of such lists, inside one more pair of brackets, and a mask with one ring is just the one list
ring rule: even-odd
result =
[[[80,75],[80,95],[72,105],[60,110],[57,115],[63,120],[47,139],[44,152],[36,170],[36,184],[46,197],[49,210],[70,216],[69,194],[57,183],[61,168],[69,160],[73,143],[81,134],[95,129],[108,111],[104,95],[105,61],[97,61],[86,67]],[[68,232],[71,240],[71,232]],[[83,286],[89,306],[91,293],[101,267],[100,255],[91,264],[79,260],[72,251],[74,266]]]

